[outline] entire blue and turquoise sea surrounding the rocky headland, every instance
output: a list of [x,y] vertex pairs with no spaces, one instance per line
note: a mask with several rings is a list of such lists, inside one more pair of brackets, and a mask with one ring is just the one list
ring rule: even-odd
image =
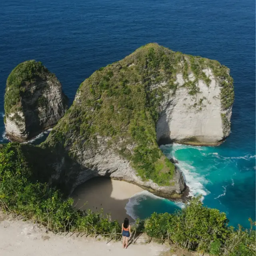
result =
[[[70,103],[92,72],[149,42],[218,60],[234,78],[232,133],[218,147],[162,150],[179,161],[191,194],[226,212],[231,225],[255,220],[255,0],[0,2],[0,134],[6,79],[25,60],[42,61],[54,72]],[[142,218],[179,207],[144,193],[126,209]]]

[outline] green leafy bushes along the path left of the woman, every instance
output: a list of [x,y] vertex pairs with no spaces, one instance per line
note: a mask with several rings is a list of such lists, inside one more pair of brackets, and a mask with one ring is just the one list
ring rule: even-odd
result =
[[59,190],[46,183],[33,182],[33,172],[19,146],[0,149],[0,208],[22,215],[53,232],[84,232],[87,235],[120,233],[118,222],[102,212],[74,210],[73,200],[64,200]]

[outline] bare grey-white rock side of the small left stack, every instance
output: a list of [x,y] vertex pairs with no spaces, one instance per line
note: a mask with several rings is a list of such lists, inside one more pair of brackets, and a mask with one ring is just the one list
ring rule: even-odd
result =
[[36,81],[22,94],[20,109],[6,115],[6,133],[23,141],[54,126],[67,109],[66,96],[56,77]]

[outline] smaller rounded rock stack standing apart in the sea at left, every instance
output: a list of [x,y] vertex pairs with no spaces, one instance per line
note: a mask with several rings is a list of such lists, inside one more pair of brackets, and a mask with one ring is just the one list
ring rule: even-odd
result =
[[12,140],[22,142],[54,126],[67,108],[60,81],[41,62],[22,62],[8,76],[4,124]]

